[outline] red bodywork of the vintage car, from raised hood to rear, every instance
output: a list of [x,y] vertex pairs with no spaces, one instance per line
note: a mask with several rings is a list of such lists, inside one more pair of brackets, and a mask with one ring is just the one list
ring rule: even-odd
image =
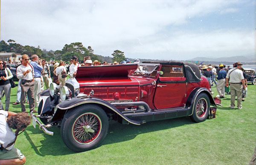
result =
[[[161,65],[157,71],[160,68]],[[131,75],[136,69],[137,64],[79,67],[76,80],[80,93],[89,94],[93,90],[94,97],[107,101],[143,101],[151,109],[184,107],[193,89],[210,87],[203,76],[200,82],[187,82],[186,77]]]

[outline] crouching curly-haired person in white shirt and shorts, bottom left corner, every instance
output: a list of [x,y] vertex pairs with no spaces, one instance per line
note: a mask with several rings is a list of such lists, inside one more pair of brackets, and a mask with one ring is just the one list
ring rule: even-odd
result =
[[[16,114],[0,110],[0,165],[23,165],[26,162],[26,157],[13,146],[19,131],[23,132],[30,122],[30,116],[25,112]],[[15,133],[12,129],[16,129]]]

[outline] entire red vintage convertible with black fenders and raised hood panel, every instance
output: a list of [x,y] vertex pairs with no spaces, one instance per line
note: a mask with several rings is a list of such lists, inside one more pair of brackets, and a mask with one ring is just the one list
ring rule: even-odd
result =
[[34,127],[37,122],[50,135],[48,127],[61,128],[64,143],[76,152],[96,148],[109,120],[141,125],[190,116],[202,122],[210,105],[216,107],[198,66],[178,61],[79,67],[66,86],[52,83],[39,96]]

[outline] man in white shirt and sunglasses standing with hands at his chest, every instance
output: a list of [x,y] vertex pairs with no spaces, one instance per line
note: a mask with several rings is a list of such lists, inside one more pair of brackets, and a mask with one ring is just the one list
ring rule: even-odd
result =
[[26,101],[26,93],[29,100],[29,109],[30,111],[35,111],[35,98],[34,98],[34,69],[33,66],[29,64],[29,56],[27,54],[23,54],[21,57],[22,64],[17,67],[16,74],[17,78],[21,79],[20,88],[20,106],[21,111],[25,112],[25,101]]

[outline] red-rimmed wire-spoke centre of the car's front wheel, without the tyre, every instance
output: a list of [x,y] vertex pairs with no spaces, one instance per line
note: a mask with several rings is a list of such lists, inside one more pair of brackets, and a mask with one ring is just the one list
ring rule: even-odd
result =
[[88,144],[99,137],[101,128],[102,122],[98,115],[82,114],[73,124],[73,138],[80,144]]

